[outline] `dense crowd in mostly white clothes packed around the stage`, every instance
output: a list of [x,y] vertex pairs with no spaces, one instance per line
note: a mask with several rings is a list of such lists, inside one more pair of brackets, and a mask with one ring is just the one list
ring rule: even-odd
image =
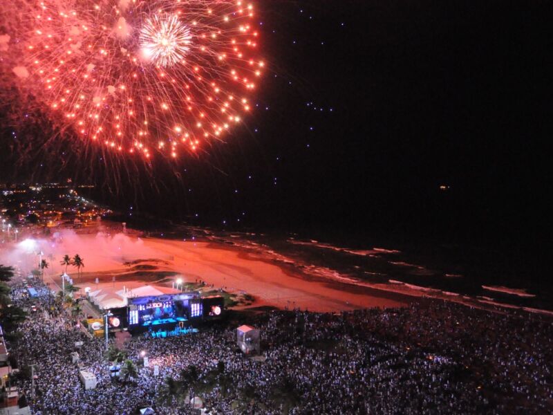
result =
[[[14,301],[30,299],[17,295]],[[102,339],[88,338],[50,295],[21,326],[12,349],[35,364],[33,414],[192,414],[200,396],[212,414],[505,414],[553,412],[553,326],[529,315],[448,302],[340,314],[272,311],[251,318],[263,358],[243,356],[236,324],[126,344],[138,376],[113,381]],[[97,376],[85,391],[70,353]],[[146,351],[148,367],[140,365]],[[159,375],[153,375],[153,367]],[[194,379],[185,376],[194,367]],[[180,382],[171,392],[171,380]],[[30,380],[23,381],[31,396]]]

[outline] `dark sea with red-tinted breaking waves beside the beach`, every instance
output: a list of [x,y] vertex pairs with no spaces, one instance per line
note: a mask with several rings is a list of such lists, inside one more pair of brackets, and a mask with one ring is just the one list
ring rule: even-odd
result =
[[[122,221],[114,216],[114,220]],[[123,218],[124,219],[124,218]],[[130,221],[129,221],[130,219]],[[146,237],[225,244],[308,277],[498,310],[553,316],[549,275],[531,256],[489,244],[444,243],[376,232],[282,232],[126,216]]]

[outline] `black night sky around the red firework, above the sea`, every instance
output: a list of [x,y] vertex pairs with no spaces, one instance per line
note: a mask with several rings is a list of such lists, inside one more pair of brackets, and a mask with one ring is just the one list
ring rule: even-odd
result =
[[268,71],[225,143],[144,167],[19,156],[28,131],[4,129],[4,180],[94,181],[126,212],[200,225],[549,246],[550,2],[258,8]]

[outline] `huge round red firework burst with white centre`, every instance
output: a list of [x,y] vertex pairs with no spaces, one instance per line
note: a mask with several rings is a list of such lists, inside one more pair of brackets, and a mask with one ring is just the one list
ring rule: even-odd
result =
[[1,70],[79,145],[144,158],[194,152],[241,122],[265,66],[250,2],[6,0],[2,9]]

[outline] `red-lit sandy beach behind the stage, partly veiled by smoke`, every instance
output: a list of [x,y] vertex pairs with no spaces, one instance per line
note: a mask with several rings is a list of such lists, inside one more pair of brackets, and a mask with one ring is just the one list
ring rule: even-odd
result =
[[[367,307],[397,307],[410,297],[370,287],[356,286],[324,277],[314,277],[275,262],[252,255],[245,248],[225,243],[140,238],[134,234],[79,233],[65,230],[53,241],[39,241],[50,267],[46,280],[57,285],[65,267],[64,255],[78,253],[84,259],[82,276],[74,267],[68,274],[80,288],[135,288],[142,284],[171,287],[185,282],[203,281],[230,293],[254,295],[252,307],[342,311]],[[113,277],[115,276],[115,283]],[[95,279],[99,284],[95,284]]]

